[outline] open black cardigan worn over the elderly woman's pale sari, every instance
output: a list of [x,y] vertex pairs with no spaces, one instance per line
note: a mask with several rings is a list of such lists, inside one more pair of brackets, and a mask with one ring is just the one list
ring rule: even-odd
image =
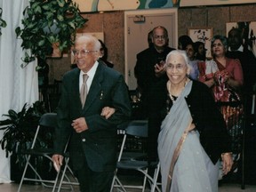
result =
[[[221,153],[231,150],[230,138],[220,110],[216,107],[210,89],[201,82],[193,81],[191,92],[185,99],[196,130],[200,132],[200,142],[215,164]],[[167,114],[166,100],[168,100],[166,81],[162,81],[155,84],[149,97],[151,104],[148,118],[148,156],[152,161],[157,157],[158,133]]]

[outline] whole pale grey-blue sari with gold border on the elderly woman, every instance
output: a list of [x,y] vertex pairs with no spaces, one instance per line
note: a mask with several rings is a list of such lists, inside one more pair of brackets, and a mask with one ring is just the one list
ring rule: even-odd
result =
[[[186,132],[192,117],[185,97],[191,91],[192,84],[192,81],[188,82],[173,103],[158,136],[162,190],[166,192],[218,191],[219,164],[212,164],[201,146],[197,131]],[[171,173],[170,168],[173,169]],[[171,186],[168,177],[172,178]]]

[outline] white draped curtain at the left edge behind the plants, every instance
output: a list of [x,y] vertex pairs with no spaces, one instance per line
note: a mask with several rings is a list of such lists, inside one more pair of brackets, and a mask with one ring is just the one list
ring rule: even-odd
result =
[[[24,52],[22,41],[16,38],[15,28],[21,25],[22,12],[28,6],[28,0],[0,0],[3,9],[2,19],[7,27],[2,28],[0,36],[0,120],[4,119],[10,108],[20,111],[25,103],[31,105],[38,100],[38,80],[36,61],[21,68]],[[2,139],[4,131],[0,131]],[[9,157],[10,158],[10,157]],[[0,183],[11,182],[10,159],[0,148]]]

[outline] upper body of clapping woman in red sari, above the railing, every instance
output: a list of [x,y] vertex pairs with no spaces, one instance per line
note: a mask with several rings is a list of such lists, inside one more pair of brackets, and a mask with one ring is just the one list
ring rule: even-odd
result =
[[226,52],[228,52],[228,39],[226,36],[213,36],[211,46],[213,57],[211,66],[202,66],[207,64],[206,62],[198,64],[199,79],[212,88],[216,102],[240,100],[239,92],[244,84],[243,69],[240,61],[229,59],[226,56]]

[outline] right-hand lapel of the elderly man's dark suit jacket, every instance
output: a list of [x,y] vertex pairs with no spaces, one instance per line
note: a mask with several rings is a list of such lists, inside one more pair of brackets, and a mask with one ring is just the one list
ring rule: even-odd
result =
[[93,100],[95,100],[97,98],[97,95],[99,95],[99,92],[102,91],[101,84],[104,78],[103,71],[104,71],[103,65],[99,62],[99,66],[96,69],[96,73],[93,77],[90,90],[86,97],[86,101],[83,109],[84,111],[86,111],[88,108],[91,107]]

